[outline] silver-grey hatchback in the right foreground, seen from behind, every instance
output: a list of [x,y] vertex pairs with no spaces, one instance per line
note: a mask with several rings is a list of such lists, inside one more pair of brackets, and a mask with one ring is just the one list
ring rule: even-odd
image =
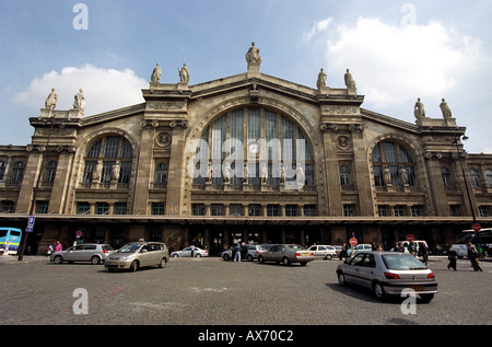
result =
[[361,252],[337,267],[341,286],[354,284],[371,289],[384,299],[413,289],[424,301],[437,292],[434,273],[411,254],[396,252]]

